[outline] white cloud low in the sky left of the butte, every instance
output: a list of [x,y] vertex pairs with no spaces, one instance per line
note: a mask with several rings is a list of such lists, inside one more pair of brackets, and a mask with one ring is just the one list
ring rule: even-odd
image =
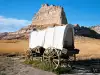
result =
[[0,16],[0,32],[17,31],[28,24],[31,24],[31,21]]

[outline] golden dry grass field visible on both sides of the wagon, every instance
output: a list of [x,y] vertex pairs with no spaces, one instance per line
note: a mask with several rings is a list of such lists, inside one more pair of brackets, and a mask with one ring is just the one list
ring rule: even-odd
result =
[[[79,59],[100,58],[100,40],[76,37],[75,48],[80,49]],[[0,40],[0,53],[24,53],[28,40]]]

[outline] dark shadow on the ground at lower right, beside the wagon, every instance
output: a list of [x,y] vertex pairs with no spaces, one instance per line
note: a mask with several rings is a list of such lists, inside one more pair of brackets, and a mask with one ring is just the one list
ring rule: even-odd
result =
[[77,60],[72,68],[75,73],[100,73],[100,59]]

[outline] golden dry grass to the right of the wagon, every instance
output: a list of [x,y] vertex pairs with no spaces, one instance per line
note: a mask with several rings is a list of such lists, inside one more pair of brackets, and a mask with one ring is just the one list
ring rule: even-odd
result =
[[75,47],[80,50],[79,59],[100,59],[100,39],[78,37],[75,39]]

